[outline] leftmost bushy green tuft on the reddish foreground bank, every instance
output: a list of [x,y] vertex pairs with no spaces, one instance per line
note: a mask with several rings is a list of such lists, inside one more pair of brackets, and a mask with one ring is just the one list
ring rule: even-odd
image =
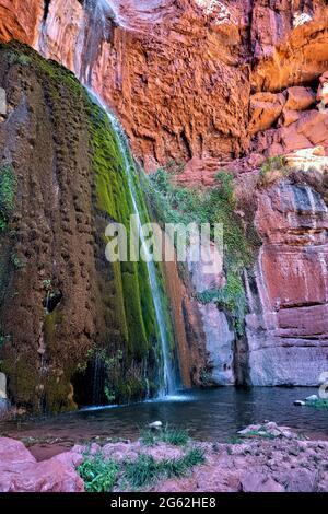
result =
[[83,479],[87,492],[112,491],[117,476],[118,465],[115,460],[104,460],[102,454],[95,456],[85,455],[78,472]]

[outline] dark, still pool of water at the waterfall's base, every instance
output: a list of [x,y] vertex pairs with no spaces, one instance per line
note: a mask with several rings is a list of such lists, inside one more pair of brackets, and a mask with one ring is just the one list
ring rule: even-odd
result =
[[163,400],[127,407],[85,409],[69,414],[1,425],[12,437],[86,441],[99,437],[136,439],[140,428],[162,421],[190,431],[195,439],[229,441],[250,423],[265,420],[286,424],[312,436],[328,439],[328,411],[295,407],[295,399],[317,394],[314,388],[267,388],[237,390],[223,387],[183,392]]

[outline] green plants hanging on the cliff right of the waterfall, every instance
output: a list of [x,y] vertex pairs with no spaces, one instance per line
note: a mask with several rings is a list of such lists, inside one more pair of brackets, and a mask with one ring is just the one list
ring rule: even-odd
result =
[[242,334],[246,313],[243,270],[253,264],[256,244],[247,237],[242,219],[236,213],[237,199],[232,173],[219,172],[215,186],[202,191],[175,186],[169,170],[167,173],[162,167],[150,175],[145,187],[150,205],[162,223],[209,223],[211,236],[214,235],[213,226],[222,224],[226,285],[220,290],[198,293],[197,300],[204,304],[216,302],[229,311],[236,331]]

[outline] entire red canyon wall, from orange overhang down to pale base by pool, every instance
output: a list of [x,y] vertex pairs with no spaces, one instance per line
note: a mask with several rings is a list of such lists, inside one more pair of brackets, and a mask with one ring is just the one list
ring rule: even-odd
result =
[[[316,384],[328,365],[326,1],[24,3],[0,0],[0,38],[33,45],[93,87],[148,171],[184,163],[177,182],[187,187],[215,186],[219,168],[236,184],[250,177],[262,245],[245,274],[247,337],[234,334],[230,313],[195,300],[207,289],[198,278],[178,305],[185,355],[197,362],[189,377],[185,366],[186,383],[201,383],[208,361],[220,385]],[[258,187],[260,166],[277,155],[298,179]],[[239,212],[245,220],[247,206]]]

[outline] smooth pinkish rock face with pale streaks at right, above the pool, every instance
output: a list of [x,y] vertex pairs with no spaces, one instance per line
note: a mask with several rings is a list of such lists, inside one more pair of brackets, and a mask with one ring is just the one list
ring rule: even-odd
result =
[[316,385],[328,364],[327,206],[308,185],[284,180],[259,196],[256,225],[263,245],[248,287],[251,383]]

